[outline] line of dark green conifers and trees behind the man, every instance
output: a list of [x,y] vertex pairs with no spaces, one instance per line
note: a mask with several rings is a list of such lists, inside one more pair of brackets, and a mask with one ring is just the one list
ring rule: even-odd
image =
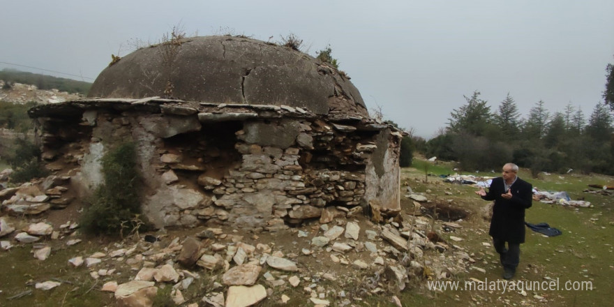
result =
[[[576,172],[614,175],[614,66],[606,67],[604,101],[588,117],[568,104],[562,112],[550,112],[543,100],[521,117],[509,93],[491,110],[479,91],[465,96],[465,104],[452,110],[446,128],[428,141],[406,137],[401,151],[454,160],[463,171],[498,170],[513,161],[539,172]],[[402,144],[403,145],[403,144]],[[407,156],[407,154],[405,154]],[[411,158],[401,159],[411,165]]]

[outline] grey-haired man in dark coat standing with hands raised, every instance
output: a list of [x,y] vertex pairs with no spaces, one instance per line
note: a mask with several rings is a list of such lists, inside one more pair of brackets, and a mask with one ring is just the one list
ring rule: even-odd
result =
[[502,177],[493,179],[488,193],[484,188],[475,192],[483,200],[495,201],[488,234],[499,253],[504,279],[514,277],[520,262],[520,246],[525,243],[525,209],[531,207],[533,197],[533,186],[517,174],[518,165],[507,163],[503,165]]

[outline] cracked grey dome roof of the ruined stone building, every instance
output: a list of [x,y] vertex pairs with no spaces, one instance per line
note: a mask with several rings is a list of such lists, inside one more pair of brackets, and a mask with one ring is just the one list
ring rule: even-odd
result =
[[368,117],[358,89],[327,63],[289,47],[231,36],[183,38],[136,50],[105,68],[88,96],[289,105],[315,114]]

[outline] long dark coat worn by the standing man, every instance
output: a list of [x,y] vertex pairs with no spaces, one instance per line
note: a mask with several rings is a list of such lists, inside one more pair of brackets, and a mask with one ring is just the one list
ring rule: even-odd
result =
[[533,186],[520,178],[511,185],[511,199],[501,197],[504,190],[503,178],[493,179],[484,200],[494,200],[491,230],[488,234],[496,239],[511,243],[525,243],[525,209],[530,208],[533,200]]

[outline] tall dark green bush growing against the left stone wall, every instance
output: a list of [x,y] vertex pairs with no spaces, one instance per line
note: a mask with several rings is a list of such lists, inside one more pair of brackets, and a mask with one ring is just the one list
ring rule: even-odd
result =
[[142,227],[136,148],[121,144],[103,157],[105,182],[94,191],[81,225],[89,234],[123,234]]

